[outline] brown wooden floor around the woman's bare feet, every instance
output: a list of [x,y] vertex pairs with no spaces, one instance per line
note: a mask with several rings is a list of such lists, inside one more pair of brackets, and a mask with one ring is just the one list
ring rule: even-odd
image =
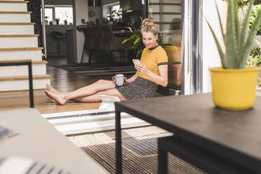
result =
[[[98,79],[111,79],[107,76],[82,76],[73,72],[67,72],[60,68],[47,66],[47,74],[53,76],[51,85],[62,92],[69,92],[87,86]],[[81,103],[68,101],[66,105],[58,105],[57,102],[49,99],[44,90],[34,91],[34,107],[39,110],[41,114],[50,114],[57,112],[70,112],[86,109],[98,109],[100,102]],[[0,92],[0,110],[26,108],[29,107],[29,92]]]

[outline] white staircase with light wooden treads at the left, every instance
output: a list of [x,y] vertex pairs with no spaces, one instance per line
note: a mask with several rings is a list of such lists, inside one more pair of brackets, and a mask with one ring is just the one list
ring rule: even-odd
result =
[[[27,11],[28,1],[0,0],[0,62],[32,60],[34,89],[46,88],[51,76],[46,74],[38,46],[39,34],[34,34],[34,22]],[[0,67],[0,91],[28,90],[28,67]]]

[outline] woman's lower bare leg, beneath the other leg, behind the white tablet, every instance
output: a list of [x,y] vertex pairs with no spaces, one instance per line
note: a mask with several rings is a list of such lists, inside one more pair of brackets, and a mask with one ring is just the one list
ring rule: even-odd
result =
[[100,98],[100,95],[112,95],[118,97],[121,101],[127,100],[121,95],[121,93],[119,93],[118,90],[116,90],[116,88],[106,91],[100,91],[98,93],[83,98],[74,98],[74,100],[78,102],[101,102],[102,100]]

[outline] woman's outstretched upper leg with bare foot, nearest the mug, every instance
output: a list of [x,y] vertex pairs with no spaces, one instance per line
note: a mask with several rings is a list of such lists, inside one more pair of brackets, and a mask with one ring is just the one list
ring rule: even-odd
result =
[[89,86],[85,86],[83,88],[77,89],[76,91],[72,91],[71,93],[60,93],[54,88],[49,88],[48,90],[48,86],[46,86],[45,92],[49,98],[57,101],[60,105],[65,105],[65,102],[67,100],[74,100],[74,98],[83,98],[98,93],[99,91],[106,91],[112,88],[115,88],[114,81],[99,80]]

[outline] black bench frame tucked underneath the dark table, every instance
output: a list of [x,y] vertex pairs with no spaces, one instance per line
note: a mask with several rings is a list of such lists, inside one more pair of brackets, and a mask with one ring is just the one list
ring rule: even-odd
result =
[[[206,173],[253,173],[250,168],[243,167],[217,153],[193,145],[192,142],[187,142],[177,135],[172,135],[158,138],[159,174],[168,173],[168,152]],[[228,163],[229,165],[227,165]]]

